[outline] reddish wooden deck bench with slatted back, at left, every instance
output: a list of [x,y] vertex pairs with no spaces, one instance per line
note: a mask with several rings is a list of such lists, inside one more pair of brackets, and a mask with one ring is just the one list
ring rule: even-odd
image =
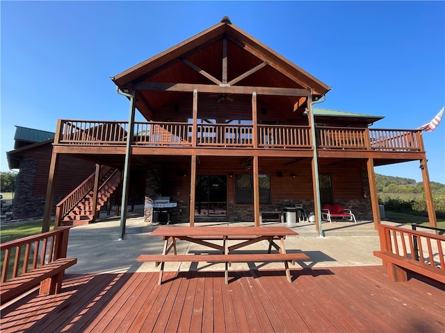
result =
[[40,295],[60,293],[65,269],[77,262],[76,258],[66,257],[70,228],[60,227],[0,244],[2,304],[39,284]]

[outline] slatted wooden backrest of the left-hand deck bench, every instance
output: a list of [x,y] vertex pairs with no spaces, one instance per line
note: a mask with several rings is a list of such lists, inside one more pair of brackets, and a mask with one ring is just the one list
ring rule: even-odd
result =
[[[59,227],[49,232],[34,234],[0,244],[1,283],[29,271],[65,258],[70,227]],[[24,248],[24,249],[23,249]],[[24,250],[24,252],[22,252]]]

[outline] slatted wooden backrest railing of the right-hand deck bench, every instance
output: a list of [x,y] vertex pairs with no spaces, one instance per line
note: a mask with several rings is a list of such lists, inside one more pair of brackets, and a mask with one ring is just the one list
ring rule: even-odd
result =
[[[445,236],[391,225],[379,225],[380,248],[445,271]],[[416,249],[415,244],[418,249]]]

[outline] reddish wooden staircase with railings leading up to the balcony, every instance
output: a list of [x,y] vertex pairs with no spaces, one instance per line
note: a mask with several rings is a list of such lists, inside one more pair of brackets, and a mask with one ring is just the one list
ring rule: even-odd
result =
[[[118,169],[102,167],[100,174],[96,212],[99,212],[101,207],[106,204],[120,183],[120,171]],[[88,224],[94,220],[94,180],[95,173],[92,173],[69,196],[60,201],[56,207],[56,225],[76,226]],[[57,223],[57,221],[59,222]]]

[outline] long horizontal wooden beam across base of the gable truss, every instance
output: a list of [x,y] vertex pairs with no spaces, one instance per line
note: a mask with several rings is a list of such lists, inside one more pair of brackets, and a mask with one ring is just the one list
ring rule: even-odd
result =
[[153,90],[162,92],[206,92],[211,94],[252,94],[257,95],[273,95],[273,96],[309,96],[307,89],[297,88],[280,88],[280,87],[249,87],[237,85],[200,85],[193,83],[160,83],[160,82],[143,82],[136,83],[134,89]]

